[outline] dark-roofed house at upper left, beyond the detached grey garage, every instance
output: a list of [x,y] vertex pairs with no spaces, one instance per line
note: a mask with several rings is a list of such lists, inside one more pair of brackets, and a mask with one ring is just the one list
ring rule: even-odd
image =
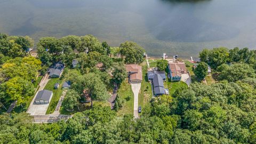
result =
[[60,77],[64,67],[65,66],[63,63],[57,62],[57,63],[55,63],[55,65],[50,67],[50,69],[47,71],[47,73],[49,73],[49,76],[51,78],[58,78],[58,77]]

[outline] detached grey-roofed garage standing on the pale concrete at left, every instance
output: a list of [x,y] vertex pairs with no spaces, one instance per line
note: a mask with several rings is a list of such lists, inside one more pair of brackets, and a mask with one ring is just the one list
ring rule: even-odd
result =
[[36,95],[34,102],[36,104],[50,103],[50,101],[52,99],[52,95],[53,95],[52,91],[48,91],[48,90],[39,91]]

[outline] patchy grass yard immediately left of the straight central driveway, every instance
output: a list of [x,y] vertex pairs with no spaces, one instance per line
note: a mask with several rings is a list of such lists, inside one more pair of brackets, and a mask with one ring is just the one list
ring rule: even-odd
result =
[[[121,83],[119,89],[117,91],[118,97],[124,101],[123,107],[117,112],[117,115],[123,114],[133,114],[133,100],[134,95],[132,92],[131,84],[128,83],[128,79],[125,79],[124,82]],[[131,96],[129,101],[126,101],[125,98]]]

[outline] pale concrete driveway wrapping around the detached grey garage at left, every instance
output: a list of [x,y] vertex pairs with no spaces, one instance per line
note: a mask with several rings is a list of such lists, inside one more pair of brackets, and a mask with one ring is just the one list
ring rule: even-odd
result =
[[33,100],[31,101],[27,113],[29,113],[30,115],[45,115],[47,108],[49,106],[49,103],[51,102],[52,97],[50,98],[50,101],[48,104],[44,104],[44,105],[35,105],[34,104],[34,100],[36,98],[36,95],[38,93],[38,91],[44,90],[45,85],[49,82],[49,75],[46,74],[43,78],[42,81],[39,83],[39,89],[37,90]]

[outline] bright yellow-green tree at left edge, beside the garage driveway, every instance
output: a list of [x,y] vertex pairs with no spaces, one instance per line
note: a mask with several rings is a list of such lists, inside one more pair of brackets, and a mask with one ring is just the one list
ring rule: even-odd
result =
[[21,77],[14,77],[1,84],[1,95],[6,101],[17,100],[18,105],[25,102],[27,98],[34,94],[34,86],[31,82]]

